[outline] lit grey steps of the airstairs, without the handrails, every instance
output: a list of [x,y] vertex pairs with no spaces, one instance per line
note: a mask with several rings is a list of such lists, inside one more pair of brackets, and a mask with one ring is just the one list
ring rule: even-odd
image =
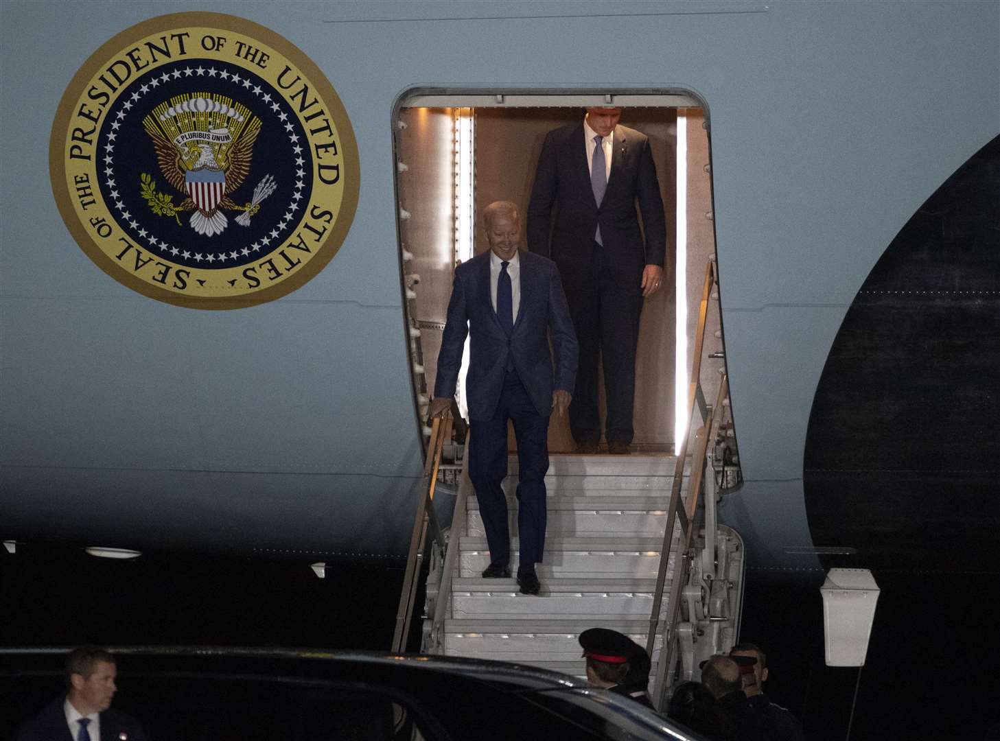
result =
[[[513,578],[484,579],[489,549],[475,495],[467,500],[458,565],[438,652],[497,659],[585,677],[578,637],[610,628],[645,646],[675,458],[552,455],[545,483],[548,532],[538,596]],[[685,474],[686,475],[686,474]],[[505,482],[516,573],[517,459]],[[674,549],[672,549],[674,550]],[[669,591],[673,555],[664,594]],[[661,617],[666,614],[664,599]],[[652,661],[659,655],[659,640]]]

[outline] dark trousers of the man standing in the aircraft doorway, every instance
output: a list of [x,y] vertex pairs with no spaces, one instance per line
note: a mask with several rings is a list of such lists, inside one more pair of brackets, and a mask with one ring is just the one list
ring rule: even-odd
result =
[[601,439],[597,404],[597,361],[604,366],[607,415],[604,438],[608,443],[632,442],[635,405],[635,356],[642,313],[641,275],[635,285],[623,288],[608,268],[604,247],[593,244],[592,270],[582,284],[567,289],[566,301],[580,343],[580,364],[573,403],[569,406],[570,431],[578,443]]

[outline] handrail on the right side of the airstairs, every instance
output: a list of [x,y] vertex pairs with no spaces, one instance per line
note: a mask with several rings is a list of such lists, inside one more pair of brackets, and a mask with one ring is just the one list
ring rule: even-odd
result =
[[[653,704],[662,707],[663,699],[667,690],[667,672],[673,665],[675,644],[677,642],[677,628],[680,620],[681,590],[687,582],[687,572],[689,569],[688,555],[691,549],[691,541],[698,529],[698,499],[701,494],[704,481],[706,459],[715,443],[719,432],[719,424],[722,421],[723,403],[725,402],[729,382],[725,374],[721,379],[719,394],[716,404],[709,407],[705,403],[705,396],[701,387],[701,360],[705,343],[705,324],[708,316],[708,305],[711,298],[712,287],[718,279],[717,268],[714,259],[710,259],[705,268],[705,284],[702,289],[701,305],[698,314],[698,328],[695,331],[695,347],[691,363],[690,383],[688,385],[687,421],[688,428],[685,429],[682,437],[680,449],[677,453],[677,462],[674,468],[674,478],[670,490],[670,504],[667,508],[667,523],[663,532],[663,547],[660,551],[660,567],[656,575],[656,591],[653,594],[653,606],[649,619],[649,633],[646,637],[646,650],[650,656],[653,654],[653,643],[657,632],[660,630],[660,607],[663,602],[663,588],[666,583],[667,568],[669,566],[670,546],[674,535],[674,525],[679,522],[681,527],[680,542],[675,555],[674,575],[670,583],[670,596],[667,602],[668,615],[663,628],[663,643],[660,649],[660,659],[657,662],[656,679],[653,690]],[[702,419],[702,425],[698,428],[694,438],[694,452],[691,456],[690,480],[687,487],[687,502],[681,496],[681,489],[684,480],[684,466],[688,452],[688,431],[694,424],[695,407],[698,407]],[[714,475],[714,474],[713,474]],[[713,518],[714,520],[714,518]],[[712,523],[714,530],[714,522]],[[715,533],[706,532],[706,537],[714,542]],[[714,548],[713,548],[714,550]]]

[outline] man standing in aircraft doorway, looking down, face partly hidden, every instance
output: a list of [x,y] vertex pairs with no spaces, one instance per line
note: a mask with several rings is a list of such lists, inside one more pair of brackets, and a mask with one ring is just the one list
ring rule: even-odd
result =
[[580,123],[548,133],[528,206],[528,249],[559,266],[580,343],[569,410],[579,453],[597,452],[601,438],[598,355],[608,451],[629,452],[639,314],[664,280],[667,230],[656,166],[646,136],[618,125],[621,111],[588,108]]

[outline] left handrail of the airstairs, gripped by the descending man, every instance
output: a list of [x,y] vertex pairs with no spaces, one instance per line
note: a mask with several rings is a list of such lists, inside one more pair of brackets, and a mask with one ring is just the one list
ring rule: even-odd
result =
[[431,437],[427,443],[427,459],[424,462],[422,492],[417,503],[416,516],[413,518],[413,532],[410,535],[410,551],[406,558],[406,571],[403,576],[403,591],[399,597],[399,609],[396,611],[396,630],[392,637],[393,653],[403,653],[406,650],[406,639],[410,634],[410,620],[413,617],[414,600],[417,596],[420,567],[424,560],[424,545],[427,542],[427,531],[440,549],[444,549],[444,534],[434,511],[434,489],[437,485],[438,469],[441,466],[441,455],[444,444],[451,439],[454,420],[451,417],[435,417],[431,422]]

